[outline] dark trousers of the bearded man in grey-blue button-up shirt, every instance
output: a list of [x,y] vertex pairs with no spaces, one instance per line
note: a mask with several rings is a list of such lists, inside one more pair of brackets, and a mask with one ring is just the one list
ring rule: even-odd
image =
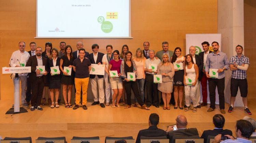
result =
[[217,86],[218,94],[219,94],[219,108],[225,109],[225,97],[224,97],[224,89],[225,89],[225,77],[221,79],[209,78],[209,97],[210,97],[210,107],[215,109],[215,90]]

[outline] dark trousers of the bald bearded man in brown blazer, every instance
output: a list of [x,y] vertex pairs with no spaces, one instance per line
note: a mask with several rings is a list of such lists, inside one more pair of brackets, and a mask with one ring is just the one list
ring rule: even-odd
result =
[[31,106],[39,106],[44,90],[44,80],[41,76],[37,77],[33,83],[31,83]]

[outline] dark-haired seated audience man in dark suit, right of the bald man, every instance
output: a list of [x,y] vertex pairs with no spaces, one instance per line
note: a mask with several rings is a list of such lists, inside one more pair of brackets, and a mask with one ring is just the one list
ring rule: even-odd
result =
[[208,136],[217,136],[218,134],[221,135],[230,135],[232,136],[232,131],[228,129],[223,129],[223,126],[225,124],[225,118],[221,114],[216,114],[212,118],[212,122],[214,124],[214,129],[213,130],[205,130],[202,133],[201,138],[203,138],[203,142],[207,142],[207,137]]

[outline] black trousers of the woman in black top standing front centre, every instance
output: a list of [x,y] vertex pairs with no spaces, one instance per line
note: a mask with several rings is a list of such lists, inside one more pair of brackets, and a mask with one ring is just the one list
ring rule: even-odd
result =
[[143,102],[141,100],[140,97],[140,93],[139,93],[139,89],[138,89],[138,84],[136,82],[133,81],[124,81],[125,84],[125,91],[126,91],[126,95],[127,95],[127,104],[131,105],[131,90],[134,93],[134,96],[136,97],[138,103],[140,104],[140,106],[143,105]]

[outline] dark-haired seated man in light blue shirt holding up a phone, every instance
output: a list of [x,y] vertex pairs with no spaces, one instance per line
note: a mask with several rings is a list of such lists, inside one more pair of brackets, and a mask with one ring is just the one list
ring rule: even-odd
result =
[[213,143],[252,143],[249,138],[253,133],[253,126],[249,121],[238,120],[235,126],[235,131],[237,136],[236,139],[233,136],[225,135],[225,137],[228,137],[229,139],[222,141],[222,135],[219,134],[215,136]]

